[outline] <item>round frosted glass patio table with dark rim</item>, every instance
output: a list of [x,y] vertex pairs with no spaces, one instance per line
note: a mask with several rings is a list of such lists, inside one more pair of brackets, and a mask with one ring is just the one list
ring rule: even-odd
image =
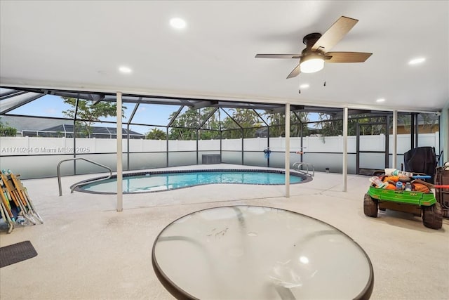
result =
[[293,211],[196,211],[156,237],[154,271],[177,299],[369,299],[373,266],[337,228]]

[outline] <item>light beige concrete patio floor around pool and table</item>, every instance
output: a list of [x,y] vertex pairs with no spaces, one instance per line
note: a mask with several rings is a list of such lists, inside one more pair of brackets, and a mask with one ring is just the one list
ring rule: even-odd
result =
[[45,223],[11,234],[3,223],[1,247],[29,240],[38,255],[0,269],[1,299],[173,299],[152,268],[154,239],[181,216],[233,204],[297,211],[342,230],[373,263],[371,299],[449,299],[449,220],[432,230],[396,211],[366,217],[368,176],[349,175],[342,192],[341,174],[317,172],[309,183],[290,185],[288,198],[283,185],[229,184],[123,195],[121,212],[116,195],[69,193],[69,185],[95,176],[63,177],[62,197],[57,178],[22,181]]

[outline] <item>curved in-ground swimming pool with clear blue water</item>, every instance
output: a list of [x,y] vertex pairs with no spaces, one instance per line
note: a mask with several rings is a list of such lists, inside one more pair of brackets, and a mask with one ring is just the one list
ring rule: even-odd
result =
[[[81,185],[76,183],[75,185],[79,186],[75,190],[86,193],[116,193],[116,176],[103,181],[89,183],[89,181],[97,179],[82,181],[81,183],[83,184]],[[311,176],[290,172],[290,184],[303,183],[310,180]],[[283,185],[285,184],[285,172],[264,169],[209,169],[123,174],[123,193],[151,193],[217,183]]]

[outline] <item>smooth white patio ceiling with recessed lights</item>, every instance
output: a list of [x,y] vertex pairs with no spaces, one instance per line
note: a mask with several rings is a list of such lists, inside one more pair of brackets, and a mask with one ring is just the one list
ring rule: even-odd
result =
[[[1,1],[2,86],[379,110],[449,102],[448,1]],[[302,38],[359,22],[331,51],[372,52],[286,79]],[[170,18],[187,22],[173,30]],[[427,60],[410,66],[419,56]],[[132,68],[121,74],[118,67]],[[326,86],[323,82],[326,81]],[[301,84],[310,84],[302,89]],[[385,98],[384,103],[376,103]]]

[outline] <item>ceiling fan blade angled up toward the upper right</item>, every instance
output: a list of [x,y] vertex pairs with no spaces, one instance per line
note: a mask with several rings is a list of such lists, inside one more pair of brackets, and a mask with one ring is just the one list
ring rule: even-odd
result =
[[329,51],[330,48],[340,41],[351,30],[358,20],[340,17],[330,28],[324,32],[318,41],[311,47],[312,50],[321,48],[322,51]]

